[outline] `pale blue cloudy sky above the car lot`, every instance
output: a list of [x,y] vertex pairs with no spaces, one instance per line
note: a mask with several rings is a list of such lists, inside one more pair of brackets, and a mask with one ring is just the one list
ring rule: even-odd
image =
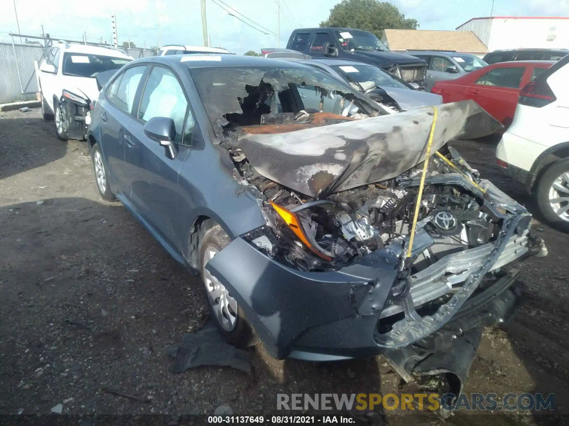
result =
[[[222,0],[242,15],[277,32],[276,0]],[[280,0],[281,47],[286,45],[294,28],[318,26],[329,15],[337,0]],[[212,45],[232,52],[276,47],[277,37],[266,35],[240,22],[214,2],[206,0],[208,32]],[[162,44],[196,44],[203,42],[200,0],[15,0],[20,31],[38,35],[40,25],[52,36],[80,39],[83,31],[89,41],[111,40],[110,15],[117,15],[119,42],[137,46],[158,44],[158,20],[161,22]],[[417,19],[423,30],[453,30],[477,16],[489,16],[492,0],[393,0],[408,18]],[[49,4],[49,8],[46,5]],[[79,6],[78,6],[79,5]],[[96,5],[96,6],[95,6]],[[444,6],[442,6],[444,5]],[[225,6],[226,7],[226,6]],[[226,9],[229,9],[226,7]],[[236,16],[238,15],[234,13]],[[494,0],[493,15],[569,16],[569,0]],[[267,31],[268,30],[268,31]],[[10,0],[0,2],[0,38],[6,32],[17,32],[14,6]],[[2,34],[3,32],[3,34]]]

